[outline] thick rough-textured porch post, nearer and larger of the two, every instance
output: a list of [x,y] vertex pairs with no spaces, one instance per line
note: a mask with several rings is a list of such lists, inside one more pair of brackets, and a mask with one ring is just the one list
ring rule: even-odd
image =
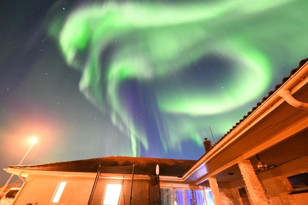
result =
[[251,203],[253,205],[269,204],[270,202],[265,195],[265,192],[250,161],[241,159],[238,162],[238,166],[246,184]]

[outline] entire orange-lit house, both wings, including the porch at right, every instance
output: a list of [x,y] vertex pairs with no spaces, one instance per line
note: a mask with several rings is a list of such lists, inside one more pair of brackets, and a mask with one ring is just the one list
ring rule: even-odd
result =
[[10,166],[24,181],[15,204],[308,204],[307,89],[304,59],[217,143],[206,140],[196,161],[111,156]]

